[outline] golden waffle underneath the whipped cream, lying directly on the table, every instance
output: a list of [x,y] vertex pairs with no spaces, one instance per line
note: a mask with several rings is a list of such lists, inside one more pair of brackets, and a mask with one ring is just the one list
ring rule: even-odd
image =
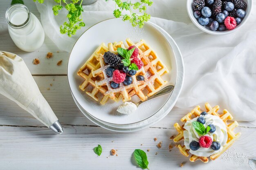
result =
[[[227,120],[232,120],[233,117],[232,115],[226,110],[223,110],[223,114],[219,115],[217,113],[217,111],[219,110],[219,106],[214,106],[213,108],[210,106],[209,103],[205,104],[205,108],[207,110],[208,114],[211,115],[215,115],[220,117],[220,119],[222,119],[222,121],[225,123],[226,128],[227,128],[227,135],[228,135],[228,139],[227,139],[227,143],[223,146],[222,150],[216,154],[213,154],[210,156],[211,160],[215,160],[217,159],[223,152],[225,152],[230,146],[232,146],[232,144],[234,143],[234,141],[236,141],[236,139],[238,139],[238,137],[240,137],[241,133],[234,133],[234,128],[236,128],[238,126],[237,121],[234,121],[231,124],[227,124]],[[186,123],[186,121],[189,121],[193,118],[191,118],[191,116],[193,115],[194,117],[198,117],[200,116],[200,114],[202,113],[202,111],[200,110],[200,106],[196,106],[191,113],[188,113],[186,116],[182,117],[182,119],[180,119],[180,121]],[[178,123],[174,124],[175,129],[178,131],[178,134],[176,135],[176,137],[173,139],[174,142],[178,142],[181,141],[182,139],[184,139],[183,136],[183,131],[185,130],[183,128],[184,125],[180,126]],[[188,157],[189,156],[189,149],[187,149],[184,145],[178,145],[178,148],[180,150],[180,152],[182,153],[182,155]],[[201,161],[203,161],[204,163],[208,162],[208,158],[207,157],[198,157],[196,155],[191,155],[190,157],[190,161],[194,162],[196,160],[200,159]]]

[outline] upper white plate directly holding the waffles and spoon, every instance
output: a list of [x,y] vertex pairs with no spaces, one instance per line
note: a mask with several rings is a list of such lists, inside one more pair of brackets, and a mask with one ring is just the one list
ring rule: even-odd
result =
[[[165,36],[154,26],[145,24],[143,29],[133,28],[130,23],[123,22],[121,19],[109,19],[95,24],[85,31],[75,43],[68,62],[67,75],[72,95],[79,103],[81,108],[86,110],[95,119],[108,124],[135,124],[144,121],[155,115],[164,106],[171,96],[170,94],[149,100],[130,115],[117,114],[115,110],[122,103],[108,101],[106,105],[101,105],[94,101],[85,92],[79,89],[83,79],[76,73],[79,68],[88,60],[88,57],[102,43],[124,41],[130,38],[133,42],[144,39],[159,55],[160,59],[166,64],[170,73],[165,75],[164,80],[168,84],[175,85],[177,79],[177,63],[175,54],[170,43]],[[136,100],[133,98],[133,100]]]

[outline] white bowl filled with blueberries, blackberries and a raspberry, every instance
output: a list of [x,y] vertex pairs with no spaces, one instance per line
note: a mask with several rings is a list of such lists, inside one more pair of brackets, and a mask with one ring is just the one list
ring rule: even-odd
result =
[[252,0],[187,0],[192,22],[213,35],[233,33],[247,22]]

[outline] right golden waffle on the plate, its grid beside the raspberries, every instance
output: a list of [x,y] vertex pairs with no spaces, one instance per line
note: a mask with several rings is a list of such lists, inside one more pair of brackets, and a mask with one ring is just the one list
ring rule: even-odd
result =
[[[126,39],[128,46],[136,46],[139,49],[139,57],[144,63],[143,69],[137,72],[136,75],[145,75],[145,83],[139,86],[139,93],[130,91],[129,95],[137,95],[142,101],[147,99],[147,96],[152,96],[157,93],[166,83],[162,79],[162,75],[169,73],[166,66],[159,59],[157,53],[146,44],[145,40],[141,40],[137,44],[133,43],[130,38]],[[147,89],[147,96],[143,90]]]

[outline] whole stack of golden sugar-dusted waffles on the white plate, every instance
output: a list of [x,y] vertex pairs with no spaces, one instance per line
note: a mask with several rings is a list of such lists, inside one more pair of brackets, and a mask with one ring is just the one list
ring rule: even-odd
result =
[[137,71],[136,75],[143,75],[144,81],[137,81],[136,75],[133,75],[131,76],[132,84],[128,86],[122,83],[118,88],[110,86],[112,77],[106,75],[109,65],[104,62],[103,55],[107,51],[117,54],[117,48],[126,49],[123,42],[109,43],[108,47],[102,43],[77,72],[84,79],[79,88],[94,100],[100,100],[100,104],[106,104],[108,99],[115,102],[122,99],[126,102],[134,95],[144,101],[167,83],[162,79],[162,75],[169,73],[168,69],[144,40],[135,44],[128,38],[126,43],[128,46],[134,45],[139,49],[138,57],[144,66]]

